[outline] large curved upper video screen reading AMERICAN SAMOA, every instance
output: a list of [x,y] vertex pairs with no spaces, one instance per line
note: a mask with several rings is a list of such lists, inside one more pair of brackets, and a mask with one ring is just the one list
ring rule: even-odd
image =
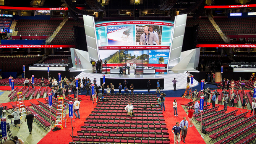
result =
[[170,49],[173,21],[108,21],[96,23],[99,50]]

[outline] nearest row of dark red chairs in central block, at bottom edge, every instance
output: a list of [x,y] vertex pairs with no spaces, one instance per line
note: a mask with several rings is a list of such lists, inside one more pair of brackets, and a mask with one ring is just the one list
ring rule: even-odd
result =
[[85,136],[73,136],[73,141],[69,144],[101,144],[102,143],[122,143],[122,144],[134,144],[134,143],[143,143],[143,144],[169,144],[170,139],[154,139],[154,138],[112,138],[112,137],[85,137]]

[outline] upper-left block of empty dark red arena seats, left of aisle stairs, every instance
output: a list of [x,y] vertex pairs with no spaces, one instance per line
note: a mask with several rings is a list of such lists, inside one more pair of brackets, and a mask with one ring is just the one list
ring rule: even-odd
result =
[[61,22],[62,20],[19,19],[15,28],[18,28],[17,36],[50,36]]

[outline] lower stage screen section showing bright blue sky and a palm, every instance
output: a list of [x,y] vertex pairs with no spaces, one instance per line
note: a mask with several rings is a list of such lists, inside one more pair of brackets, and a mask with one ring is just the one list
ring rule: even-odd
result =
[[170,50],[149,50],[149,63],[167,64]]

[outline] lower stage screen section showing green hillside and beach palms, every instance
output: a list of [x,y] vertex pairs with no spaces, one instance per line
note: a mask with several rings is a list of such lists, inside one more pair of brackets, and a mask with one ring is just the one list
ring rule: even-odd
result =
[[149,50],[99,50],[107,63],[148,63]]

